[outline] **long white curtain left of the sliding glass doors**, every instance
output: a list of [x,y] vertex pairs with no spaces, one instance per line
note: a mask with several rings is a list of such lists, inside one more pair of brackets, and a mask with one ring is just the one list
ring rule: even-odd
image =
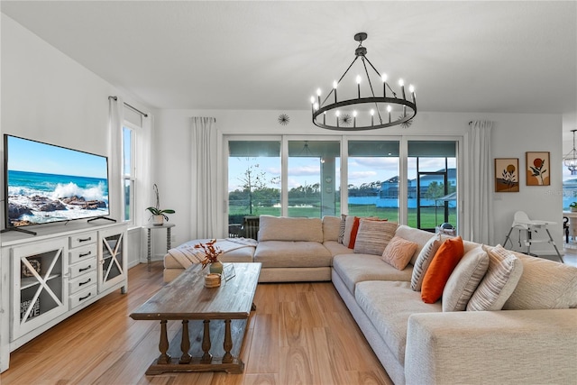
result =
[[218,133],[213,117],[190,119],[192,212],[190,230],[193,238],[212,238],[218,231]]

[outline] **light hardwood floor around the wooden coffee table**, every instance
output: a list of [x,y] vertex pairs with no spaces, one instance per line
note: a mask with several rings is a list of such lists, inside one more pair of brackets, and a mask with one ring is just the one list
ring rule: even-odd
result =
[[[243,374],[144,372],[160,325],[128,315],[162,286],[162,263],[129,270],[120,291],[11,354],[0,384],[392,384],[330,282],[259,284],[243,344]],[[178,322],[169,323],[175,335]]]

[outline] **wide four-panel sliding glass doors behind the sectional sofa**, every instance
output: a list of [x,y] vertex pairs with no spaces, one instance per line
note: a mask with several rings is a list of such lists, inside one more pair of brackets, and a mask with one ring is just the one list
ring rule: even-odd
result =
[[229,225],[244,216],[341,213],[429,231],[458,225],[459,140],[326,138],[229,138]]

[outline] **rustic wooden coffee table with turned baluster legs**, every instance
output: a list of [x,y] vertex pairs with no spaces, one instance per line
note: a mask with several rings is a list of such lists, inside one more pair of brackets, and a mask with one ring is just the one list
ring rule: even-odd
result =
[[[164,371],[226,371],[241,373],[239,358],[261,263],[224,263],[234,277],[220,287],[205,288],[205,274],[195,264],[160,289],[130,316],[160,321],[160,356],[146,374]],[[167,322],[179,320],[182,329],[169,343]],[[192,342],[192,343],[191,343]],[[179,358],[173,358],[177,357]]]

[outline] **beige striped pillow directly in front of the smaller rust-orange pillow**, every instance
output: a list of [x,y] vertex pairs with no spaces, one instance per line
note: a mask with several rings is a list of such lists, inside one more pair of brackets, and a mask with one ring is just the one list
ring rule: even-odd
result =
[[361,219],[354,252],[382,255],[389,241],[395,236],[397,226],[396,222]]

